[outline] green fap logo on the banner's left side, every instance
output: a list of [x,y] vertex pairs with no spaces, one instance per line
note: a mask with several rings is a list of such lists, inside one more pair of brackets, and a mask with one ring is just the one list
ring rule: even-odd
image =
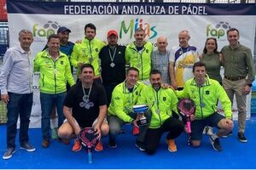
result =
[[32,26],[32,33],[35,41],[45,41],[51,34],[55,34],[59,28],[59,24],[56,21],[49,20],[43,26],[39,26],[38,23]]

